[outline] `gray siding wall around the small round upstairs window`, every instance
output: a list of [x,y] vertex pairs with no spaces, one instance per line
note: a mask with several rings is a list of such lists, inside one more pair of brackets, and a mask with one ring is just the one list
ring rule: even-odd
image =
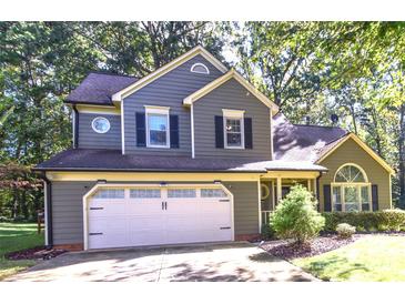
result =
[[[97,133],[91,123],[102,116],[110,121],[107,133]],[[121,115],[79,113],[79,148],[121,150]]]

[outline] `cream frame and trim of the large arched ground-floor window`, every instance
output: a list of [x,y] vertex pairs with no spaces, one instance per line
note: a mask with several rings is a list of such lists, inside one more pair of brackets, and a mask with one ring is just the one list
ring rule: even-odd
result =
[[[355,166],[360,170],[360,172],[362,172],[365,182],[335,182],[336,180],[336,175],[337,172],[340,172],[344,166],[346,165],[352,165]],[[373,210],[373,199],[372,199],[372,183],[368,182],[368,178],[367,174],[365,173],[365,171],[363,170],[363,168],[361,168],[360,165],[355,164],[355,163],[345,163],[343,165],[341,165],[334,175],[333,182],[331,183],[331,204],[332,204],[332,211],[337,211],[335,210],[335,201],[334,201],[334,195],[333,195],[333,189],[334,188],[341,188],[341,204],[342,204],[342,211],[341,212],[346,212],[346,202],[345,202],[345,188],[356,188],[357,189],[357,204],[358,204],[358,212],[362,211],[363,209],[363,203],[362,203],[362,188],[363,186],[367,186],[367,192],[368,192],[368,211]]]

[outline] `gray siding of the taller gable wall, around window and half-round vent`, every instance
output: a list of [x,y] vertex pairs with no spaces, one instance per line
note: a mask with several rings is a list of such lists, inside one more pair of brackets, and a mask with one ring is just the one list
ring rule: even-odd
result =
[[[210,74],[190,72],[196,62],[204,63]],[[190,109],[183,107],[183,99],[221,75],[222,72],[209,61],[196,55],[125,98],[123,101],[125,153],[191,155]],[[144,112],[144,105],[170,107],[170,114],[179,115],[179,149],[136,146],[135,112]]]

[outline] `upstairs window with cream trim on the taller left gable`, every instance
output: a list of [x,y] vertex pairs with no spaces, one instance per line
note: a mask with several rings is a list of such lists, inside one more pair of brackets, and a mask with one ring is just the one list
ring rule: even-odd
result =
[[170,148],[169,108],[145,105],[146,146]]

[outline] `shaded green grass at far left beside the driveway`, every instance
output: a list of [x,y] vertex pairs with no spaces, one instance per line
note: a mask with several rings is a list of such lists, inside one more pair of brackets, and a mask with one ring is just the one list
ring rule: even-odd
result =
[[0,223],[0,281],[36,264],[32,260],[9,261],[4,254],[43,245],[43,233],[37,234],[37,224]]

